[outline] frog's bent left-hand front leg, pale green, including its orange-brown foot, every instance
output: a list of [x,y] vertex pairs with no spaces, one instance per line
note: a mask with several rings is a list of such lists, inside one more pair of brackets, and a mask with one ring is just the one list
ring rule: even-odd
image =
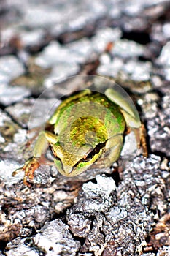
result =
[[25,172],[23,178],[23,184],[28,187],[31,187],[31,184],[27,180],[32,181],[34,178],[34,171],[41,165],[42,156],[47,151],[49,144],[55,143],[57,141],[57,136],[51,132],[42,131],[39,133],[39,137],[36,141],[33,150],[33,157],[26,161],[25,165],[12,173],[12,176],[15,176],[20,170]]

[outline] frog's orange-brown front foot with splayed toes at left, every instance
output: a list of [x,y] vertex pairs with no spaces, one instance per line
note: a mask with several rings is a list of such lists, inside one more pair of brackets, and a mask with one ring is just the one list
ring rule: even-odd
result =
[[12,173],[12,176],[15,176],[20,170],[23,170],[25,172],[23,177],[23,184],[25,184],[28,187],[31,187],[31,184],[28,182],[28,180],[33,181],[34,171],[40,166],[38,159],[39,158],[32,157],[25,163],[23,167],[15,170]]

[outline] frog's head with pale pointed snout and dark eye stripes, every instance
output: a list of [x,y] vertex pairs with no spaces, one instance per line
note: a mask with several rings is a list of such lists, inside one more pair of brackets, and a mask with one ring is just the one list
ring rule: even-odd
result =
[[63,129],[51,145],[54,162],[64,176],[77,176],[101,156],[107,142],[107,129],[98,118],[77,118],[69,129]]

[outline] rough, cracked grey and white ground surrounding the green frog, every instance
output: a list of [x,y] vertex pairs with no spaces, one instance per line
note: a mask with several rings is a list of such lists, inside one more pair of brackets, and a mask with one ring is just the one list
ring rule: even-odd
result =
[[[169,5],[1,0],[0,255],[170,255]],[[146,127],[149,156],[86,181],[42,166],[26,187],[12,171],[31,157],[28,129],[79,89],[80,79],[65,81],[74,75],[123,86]]]

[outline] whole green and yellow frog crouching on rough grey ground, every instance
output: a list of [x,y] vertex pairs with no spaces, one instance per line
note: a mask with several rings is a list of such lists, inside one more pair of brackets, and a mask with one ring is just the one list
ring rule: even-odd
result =
[[[104,94],[85,89],[63,99],[39,132],[33,156],[23,167],[23,184],[31,187],[34,171],[50,148],[58,172],[66,177],[80,175],[93,166],[109,167],[120,157],[125,135],[134,132],[140,146],[142,123],[134,104],[114,88]],[[28,182],[29,180],[29,182]]]

